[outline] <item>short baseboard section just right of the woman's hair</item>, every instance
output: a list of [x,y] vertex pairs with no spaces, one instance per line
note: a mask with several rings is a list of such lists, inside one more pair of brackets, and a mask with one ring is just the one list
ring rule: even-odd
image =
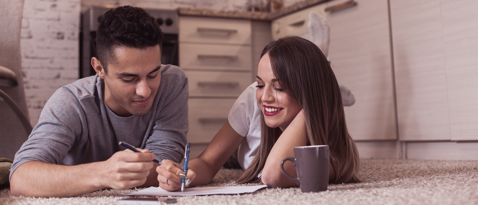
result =
[[393,141],[355,141],[362,159],[399,159],[399,142]]

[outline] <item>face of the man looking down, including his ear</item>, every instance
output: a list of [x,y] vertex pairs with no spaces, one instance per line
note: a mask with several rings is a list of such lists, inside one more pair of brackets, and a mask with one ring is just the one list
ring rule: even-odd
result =
[[116,61],[98,74],[104,79],[104,101],[117,115],[143,116],[151,109],[161,82],[161,51],[158,46],[145,50],[120,47]]

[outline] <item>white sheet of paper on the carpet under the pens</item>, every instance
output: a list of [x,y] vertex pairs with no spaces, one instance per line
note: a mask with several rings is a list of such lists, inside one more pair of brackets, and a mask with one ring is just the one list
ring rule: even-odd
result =
[[184,191],[166,191],[161,187],[151,186],[140,191],[136,191],[129,196],[195,196],[195,195],[214,195],[214,194],[243,194],[252,193],[266,185],[260,186],[212,186],[212,187],[192,187],[185,188]]

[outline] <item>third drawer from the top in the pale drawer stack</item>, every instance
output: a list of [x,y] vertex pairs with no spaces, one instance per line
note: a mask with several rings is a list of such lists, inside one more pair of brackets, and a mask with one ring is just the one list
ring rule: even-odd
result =
[[252,75],[236,72],[185,71],[189,96],[238,97],[252,83]]

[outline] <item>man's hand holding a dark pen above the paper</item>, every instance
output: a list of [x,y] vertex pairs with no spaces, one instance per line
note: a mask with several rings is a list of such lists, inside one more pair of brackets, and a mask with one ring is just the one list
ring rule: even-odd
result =
[[99,176],[101,184],[118,190],[124,190],[145,184],[149,170],[153,168],[152,160],[156,158],[148,149],[129,149],[118,151],[102,163]]

